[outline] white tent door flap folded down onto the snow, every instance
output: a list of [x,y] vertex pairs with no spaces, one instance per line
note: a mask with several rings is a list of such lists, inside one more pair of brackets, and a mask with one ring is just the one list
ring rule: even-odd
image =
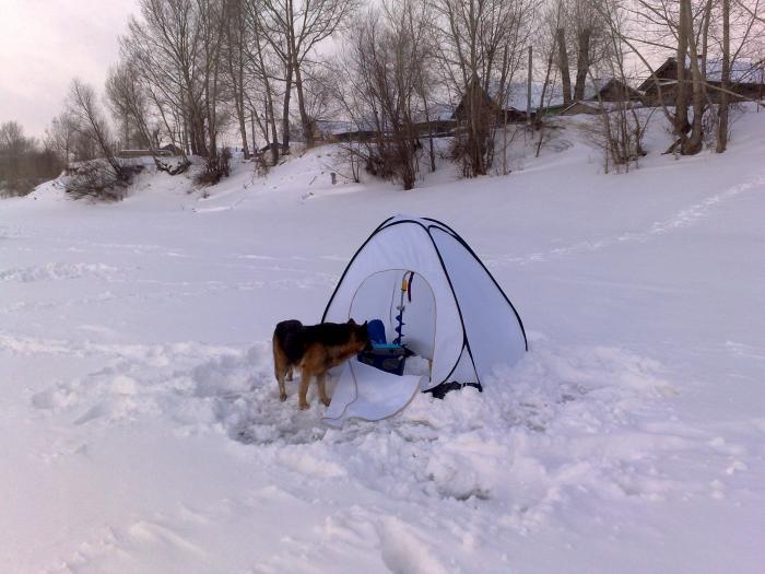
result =
[[392,417],[409,405],[421,379],[420,375],[392,375],[353,359],[342,370],[322,422],[340,427],[349,419]]

